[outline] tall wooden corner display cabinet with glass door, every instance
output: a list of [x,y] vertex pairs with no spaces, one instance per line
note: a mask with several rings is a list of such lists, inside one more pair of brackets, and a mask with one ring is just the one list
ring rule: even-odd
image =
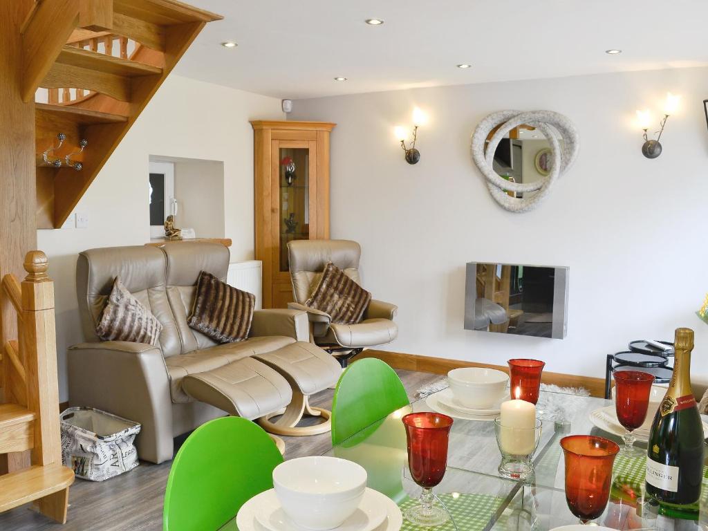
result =
[[287,242],[329,238],[329,122],[254,120],[256,260],[263,308],[292,302]]

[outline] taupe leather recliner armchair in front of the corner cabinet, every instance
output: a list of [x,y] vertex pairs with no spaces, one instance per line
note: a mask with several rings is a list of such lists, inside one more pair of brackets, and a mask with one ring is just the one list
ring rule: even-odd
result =
[[391,343],[398,336],[398,326],[394,323],[398,307],[389,302],[372,299],[362,321],[356,324],[333,323],[329,314],[305,306],[329,262],[361,285],[361,247],[356,241],[289,241],[287,256],[290,261],[292,295],[295,299],[295,302],[290,302],[287,307],[307,312],[311,341],[335,355],[342,367],[346,367],[348,360],[365,348]]

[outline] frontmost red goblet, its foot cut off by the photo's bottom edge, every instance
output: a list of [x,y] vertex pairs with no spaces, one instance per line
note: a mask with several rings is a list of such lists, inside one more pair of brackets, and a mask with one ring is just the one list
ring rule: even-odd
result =
[[612,464],[619,445],[593,435],[569,435],[561,439],[561,447],[568,508],[583,524],[600,518],[610,498]]

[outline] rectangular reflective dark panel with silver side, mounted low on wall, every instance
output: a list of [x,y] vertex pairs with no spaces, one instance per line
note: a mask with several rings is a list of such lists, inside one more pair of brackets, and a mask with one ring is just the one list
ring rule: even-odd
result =
[[566,267],[467,263],[467,330],[562,339],[567,308]]

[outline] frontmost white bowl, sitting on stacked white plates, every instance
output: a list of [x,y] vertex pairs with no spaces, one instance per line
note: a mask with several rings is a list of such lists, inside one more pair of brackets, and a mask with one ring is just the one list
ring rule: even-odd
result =
[[315,531],[338,527],[358,508],[366,470],[338,457],[299,457],[273,470],[280,506],[297,525]]

